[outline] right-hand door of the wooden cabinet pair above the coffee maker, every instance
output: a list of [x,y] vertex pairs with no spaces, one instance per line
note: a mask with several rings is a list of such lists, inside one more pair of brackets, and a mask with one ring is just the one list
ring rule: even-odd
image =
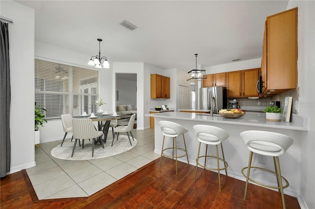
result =
[[242,96],[243,97],[258,97],[256,84],[259,77],[259,69],[243,70],[242,71]]

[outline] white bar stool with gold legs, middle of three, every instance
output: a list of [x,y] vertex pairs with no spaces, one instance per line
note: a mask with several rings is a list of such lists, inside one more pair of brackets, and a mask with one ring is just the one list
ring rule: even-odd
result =
[[[215,126],[208,126],[208,125],[195,125],[195,126],[193,126],[193,130],[195,131],[196,137],[199,141],[199,148],[198,148],[198,156],[196,158],[196,172],[195,172],[194,181],[196,181],[198,165],[203,167],[204,169],[207,169],[207,170],[216,170],[216,171],[218,171],[218,175],[219,175],[219,189],[221,191],[220,170],[225,170],[225,174],[227,176],[226,168],[228,166],[228,164],[224,158],[222,142],[229,137],[229,134],[221,128],[218,128]],[[204,156],[200,156],[201,143],[206,144],[206,154]],[[218,144],[221,144],[222,158],[219,157]],[[207,155],[208,145],[216,145],[217,156],[208,156]],[[201,157],[205,158],[204,165],[201,165],[199,163],[199,158],[201,158]],[[213,158],[217,159],[217,168],[206,167],[207,157],[213,157]],[[219,160],[224,162],[223,168],[220,168]]]

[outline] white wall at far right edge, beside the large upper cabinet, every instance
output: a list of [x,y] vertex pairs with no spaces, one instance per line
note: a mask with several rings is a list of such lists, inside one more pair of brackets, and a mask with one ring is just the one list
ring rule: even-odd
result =
[[301,208],[315,208],[315,1],[289,1],[298,7],[298,114],[309,117],[309,131],[301,140],[301,178],[298,198]]

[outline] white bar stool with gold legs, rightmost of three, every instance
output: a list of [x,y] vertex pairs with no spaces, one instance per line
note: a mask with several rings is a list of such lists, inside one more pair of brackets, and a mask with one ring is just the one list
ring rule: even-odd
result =
[[[243,131],[240,133],[240,136],[245,142],[246,147],[251,151],[248,167],[242,169],[242,174],[244,177],[246,177],[244,201],[246,200],[247,186],[248,181],[250,180],[261,186],[278,189],[279,192],[281,192],[282,206],[285,209],[284,188],[288,187],[289,183],[283,176],[281,176],[279,156],[282,156],[285,151],[293,144],[293,139],[284,134],[269,131]],[[265,168],[251,166],[253,153],[264,156],[272,156],[274,158],[275,172]],[[250,178],[251,168],[260,169],[275,174],[277,177],[278,186],[265,185],[252,180]],[[244,169],[248,169],[247,175],[244,174]],[[286,183],[284,186],[282,179]]]

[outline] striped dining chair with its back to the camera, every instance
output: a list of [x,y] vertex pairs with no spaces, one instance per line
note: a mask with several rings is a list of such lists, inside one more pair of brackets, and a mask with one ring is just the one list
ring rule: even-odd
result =
[[[92,140],[92,157],[94,157],[94,145],[95,138],[100,137],[103,134],[103,131],[97,131],[93,124],[93,121],[90,118],[73,118],[72,119],[72,127],[73,127],[73,138],[75,139],[72,155],[73,157],[75,146],[77,141],[82,139],[82,149],[84,149],[84,139],[93,139]],[[100,140],[104,149],[103,140]]]

